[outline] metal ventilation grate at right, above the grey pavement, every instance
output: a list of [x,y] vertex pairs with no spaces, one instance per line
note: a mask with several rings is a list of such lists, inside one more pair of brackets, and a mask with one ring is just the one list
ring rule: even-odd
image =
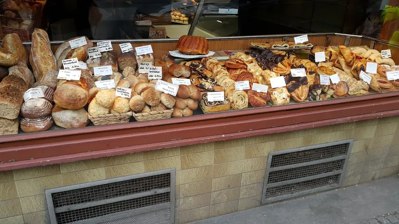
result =
[[262,204],[339,187],[353,139],[269,154]]

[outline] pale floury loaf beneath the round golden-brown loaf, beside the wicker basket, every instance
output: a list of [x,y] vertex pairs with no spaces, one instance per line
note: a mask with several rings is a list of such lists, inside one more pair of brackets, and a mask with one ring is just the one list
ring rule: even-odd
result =
[[51,116],[55,124],[63,128],[84,127],[89,122],[87,112],[83,108],[78,110],[66,110],[55,105]]

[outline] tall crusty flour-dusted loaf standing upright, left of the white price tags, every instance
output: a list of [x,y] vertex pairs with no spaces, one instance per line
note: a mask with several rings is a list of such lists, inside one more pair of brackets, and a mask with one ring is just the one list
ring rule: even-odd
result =
[[36,80],[40,80],[48,70],[55,70],[57,68],[55,57],[49,45],[48,36],[43,32],[45,31],[35,28],[35,31],[32,33],[32,61],[38,71]]

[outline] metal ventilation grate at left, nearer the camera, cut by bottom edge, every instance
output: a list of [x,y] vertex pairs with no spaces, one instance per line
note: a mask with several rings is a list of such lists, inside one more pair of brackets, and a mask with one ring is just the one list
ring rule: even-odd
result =
[[174,193],[174,169],[45,191],[51,224],[172,224]]

